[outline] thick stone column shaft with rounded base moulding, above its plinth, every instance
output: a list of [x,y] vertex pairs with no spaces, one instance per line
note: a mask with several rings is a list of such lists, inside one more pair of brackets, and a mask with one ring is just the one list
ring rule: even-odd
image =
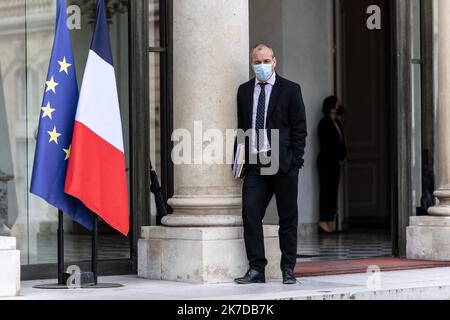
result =
[[236,92],[249,75],[247,2],[174,1],[174,129],[190,133],[192,164],[174,167],[174,214],[163,219],[166,226],[242,224],[240,185],[230,165],[204,163],[201,135],[218,129],[225,137],[236,127]]

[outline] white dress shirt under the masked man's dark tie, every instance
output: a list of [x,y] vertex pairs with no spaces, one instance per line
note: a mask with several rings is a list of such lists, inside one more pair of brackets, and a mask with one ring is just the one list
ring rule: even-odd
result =
[[[266,93],[266,103],[265,103],[265,111],[264,111],[264,129],[267,128],[267,111],[269,109],[269,102],[270,102],[270,95],[272,94],[273,86],[275,85],[276,81],[276,73],[274,72],[269,80],[266,81],[266,85],[264,87],[265,93]],[[253,92],[253,116],[252,116],[252,150],[251,152],[253,154],[258,153],[258,150],[256,148],[256,114],[258,113],[258,100],[259,95],[261,94],[261,86],[259,85],[260,81],[258,79],[255,79],[255,90]],[[260,150],[260,152],[268,152],[270,151],[270,144],[269,139],[267,137],[267,130],[264,130],[264,145],[263,148]]]

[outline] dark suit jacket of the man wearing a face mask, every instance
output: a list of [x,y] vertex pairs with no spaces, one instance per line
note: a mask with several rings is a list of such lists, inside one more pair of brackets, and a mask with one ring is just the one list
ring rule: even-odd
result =
[[[244,132],[252,129],[254,89],[255,78],[241,85],[238,90],[238,129],[242,129]],[[270,130],[279,130],[279,166],[281,171],[288,173],[292,166],[302,168],[307,137],[302,91],[298,84],[284,79],[278,74],[276,75],[275,85],[272,88],[266,127],[269,130],[268,139],[271,146]],[[249,163],[248,155],[250,150],[248,140],[246,139],[245,148],[247,165]],[[272,161],[274,161],[273,158]]]

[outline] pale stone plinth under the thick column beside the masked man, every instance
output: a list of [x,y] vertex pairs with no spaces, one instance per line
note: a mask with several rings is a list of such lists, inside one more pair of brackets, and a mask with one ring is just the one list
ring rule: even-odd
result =
[[[267,279],[280,279],[278,226],[264,227]],[[138,276],[189,283],[227,283],[245,274],[242,227],[143,227]]]

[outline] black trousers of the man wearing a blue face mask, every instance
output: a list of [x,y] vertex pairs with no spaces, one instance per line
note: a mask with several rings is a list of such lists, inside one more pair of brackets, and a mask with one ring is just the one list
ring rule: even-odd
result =
[[294,269],[297,260],[298,168],[273,176],[260,175],[257,165],[246,169],[242,190],[244,239],[250,268],[264,272],[267,265],[264,250],[263,219],[275,195],[279,216],[281,269]]

